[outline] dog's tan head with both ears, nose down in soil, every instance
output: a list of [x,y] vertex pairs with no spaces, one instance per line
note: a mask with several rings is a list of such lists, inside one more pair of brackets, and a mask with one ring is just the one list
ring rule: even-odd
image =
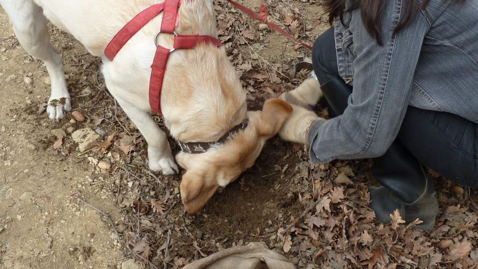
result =
[[279,132],[292,112],[280,99],[265,101],[262,111],[248,112],[249,124],[234,138],[201,154],[181,152],[177,162],[187,171],[181,182],[181,198],[188,213],[203,208],[219,186],[224,187],[250,168],[267,139]]

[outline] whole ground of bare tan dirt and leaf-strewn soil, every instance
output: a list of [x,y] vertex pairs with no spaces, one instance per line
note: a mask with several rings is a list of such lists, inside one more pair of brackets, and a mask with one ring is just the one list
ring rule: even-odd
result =
[[[253,8],[261,3],[240,2]],[[294,22],[305,23],[307,33],[299,34],[309,44],[328,28],[326,16],[314,0],[268,4],[273,7],[270,20],[282,23],[290,14]],[[217,6],[218,23],[230,21],[231,27],[244,28],[235,29],[238,34],[231,33],[229,38],[219,24],[219,38],[227,45],[244,87],[250,90],[251,108],[259,109],[265,98],[290,90],[304,79],[300,75],[277,76],[281,72],[290,76],[287,71],[301,59],[310,60],[310,52],[268,29],[258,31],[259,22],[242,19],[239,11],[225,11],[225,6],[223,2]],[[164,177],[148,170],[147,145],[105,88],[100,59],[87,54],[74,38],[53,25],[50,33],[64,60],[73,110],[87,117],[84,122],[77,122],[71,113],[60,123],[48,119],[44,112],[38,114],[38,106],[50,92],[46,68],[19,45],[7,14],[0,8],[0,93],[4,97],[0,105],[0,269],[136,269],[144,267],[144,257],[151,268],[175,269],[249,242],[266,242],[291,258],[297,268],[306,269],[362,268],[362,263],[369,264],[382,248],[380,266],[385,266],[385,257],[388,268],[400,262],[402,268],[414,264],[421,268],[437,268],[438,264],[440,268],[450,267],[450,260],[466,263],[450,256],[449,251],[470,242],[473,250],[470,247],[467,251],[467,262],[478,262],[478,233],[473,226],[477,222],[473,215],[478,209],[476,193],[462,189],[456,194],[459,191],[454,193],[453,186],[443,180],[439,187],[444,218],[441,228],[420,234],[392,225],[390,231],[390,225],[384,228],[374,223],[367,206],[365,186],[371,182],[368,161],[313,166],[307,161],[306,149],[277,137],[266,144],[252,168],[218,190],[200,213],[185,214],[179,197],[181,175]],[[160,118],[156,120],[161,125]],[[71,134],[84,128],[95,130],[101,141],[114,133],[113,146],[80,154]],[[66,137],[55,149],[57,138],[52,130],[57,129]],[[177,151],[174,141],[170,142]],[[110,162],[111,168],[98,168],[100,160]],[[347,199],[334,198],[341,191]],[[105,216],[72,194],[108,214],[120,241]],[[332,203],[328,208],[322,202],[329,196]],[[307,202],[315,199],[322,201],[316,210],[305,215],[285,237],[281,235],[304,212]],[[456,204],[458,209],[450,209]],[[460,209],[459,204],[465,206]],[[343,214],[349,215],[344,218]],[[454,214],[466,215],[466,225],[452,221]],[[350,223],[346,223],[348,216]],[[373,242],[368,240],[369,233]],[[411,238],[428,247],[420,252],[423,257],[409,243]],[[445,239],[455,240],[451,250],[434,250]],[[445,259],[446,255],[452,258]],[[143,266],[132,264],[132,259]]]

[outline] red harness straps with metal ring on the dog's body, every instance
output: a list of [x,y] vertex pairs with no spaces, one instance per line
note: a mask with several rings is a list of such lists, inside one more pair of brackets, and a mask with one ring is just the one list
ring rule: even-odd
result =
[[[138,15],[132,18],[130,22],[126,23],[120,32],[111,39],[105,49],[105,56],[112,61],[120,49],[134,34],[146,25],[146,23],[150,22],[154,17],[163,12],[161,30],[158,34],[174,34],[174,45],[171,50],[158,45],[151,65],[149,102],[151,110],[160,115],[163,115],[161,112],[161,88],[163,87],[164,72],[166,71],[169,54],[175,49],[192,49],[196,47],[196,45],[202,43],[210,43],[215,46],[222,45],[221,42],[213,36],[199,34],[176,35],[174,33],[174,27],[178,20],[178,8],[180,4],[181,0],[166,0],[161,4],[152,5],[141,11]],[[154,42],[156,41],[154,40]]]

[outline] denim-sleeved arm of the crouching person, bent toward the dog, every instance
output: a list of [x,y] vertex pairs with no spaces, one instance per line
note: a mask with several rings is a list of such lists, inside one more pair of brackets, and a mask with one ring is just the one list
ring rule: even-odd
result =
[[397,136],[410,100],[424,36],[430,27],[419,14],[412,25],[392,35],[401,4],[401,0],[387,1],[382,22],[383,46],[365,31],[360,10],[353,11],[353,93],[343,115],[311,125],[307,138],[312,162],[379,157]]

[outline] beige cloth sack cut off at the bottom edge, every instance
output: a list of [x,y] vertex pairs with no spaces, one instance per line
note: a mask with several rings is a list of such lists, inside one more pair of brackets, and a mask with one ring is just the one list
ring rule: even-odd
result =
[[295,269],[295,266],[268,248],[241,246],[221,250],[183,269]]

